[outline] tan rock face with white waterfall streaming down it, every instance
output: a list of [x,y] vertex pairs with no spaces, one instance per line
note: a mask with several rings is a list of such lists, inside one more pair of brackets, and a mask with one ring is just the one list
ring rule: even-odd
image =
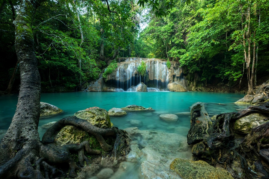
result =
[[[146,75],[143,76],[138,71],[142,62],[146,64]],[[118,67],[111,74],[107,74],[102,84],[100,84],[101,80],[98,80],[87,91],[107,91],[110,88],[114,89],[112,91],[149,91],[141,89],[141,84],[144,84],[143,88],[168,91],[168,84],[173,82],[181,85],[180,91],[188,91],[187,82],[179,62],[171,61],[169,69],[166,63],[164,59],[119,58]]]

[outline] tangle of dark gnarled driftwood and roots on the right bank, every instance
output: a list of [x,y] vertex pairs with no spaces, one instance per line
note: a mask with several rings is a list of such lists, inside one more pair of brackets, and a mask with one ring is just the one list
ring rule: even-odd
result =
[[[203,159],[212,165],[223,165],[233,175],[240,178],[266,178],[269,176],[269,122],[253,128],[249,134],[236,134],[232,130],[234,122],[251,113],[269,116],[269,102],[260,106],[251,106],[240,112],[217,115],[211,132],[211,120],[202,103],[196,103],[191,109],[191,129],[188,144],[193,144],[194,158]],[[201,118],[203,118],[201,120]],[[202,121],[202,122],[201,122]],[[197,125],[203,124],[203,125]],[[206,132],[207,131],[207,132]],[[208,133],[210,131],[211,133]],[[196,132],[201,132],[195,136]],[[236,171],[238,163],[241,174]],[[256,167],[253,167],[256,166]]]

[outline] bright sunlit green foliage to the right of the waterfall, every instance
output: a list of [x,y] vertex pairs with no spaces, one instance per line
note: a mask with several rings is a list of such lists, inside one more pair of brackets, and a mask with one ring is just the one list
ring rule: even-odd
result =
[[177,1],[166,16],[150,11],[138,40],[153,47],[145,56],[179,61],[203,85],[218,78],[232,86],[245,74],[255,85],[269,70],[268,7],[264,0]]

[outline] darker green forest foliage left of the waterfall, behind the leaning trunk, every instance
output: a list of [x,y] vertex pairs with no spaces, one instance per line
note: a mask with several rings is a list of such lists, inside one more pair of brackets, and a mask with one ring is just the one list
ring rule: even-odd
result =
[[[0,1],[0,91],[9,81],[14,82],[13,91],[19,89],[13,25],[19,3]],[[32,26],[42,91],[80,90],[98,78],[109,60],[130,57],[139,8],[132,0],[41,3]]]

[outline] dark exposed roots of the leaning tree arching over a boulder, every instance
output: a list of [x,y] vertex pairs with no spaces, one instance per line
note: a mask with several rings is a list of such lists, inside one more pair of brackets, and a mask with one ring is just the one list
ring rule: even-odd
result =
[[[70,168],[69,177],[76,176],[76,170],[84,166],[84,162],[89,165],[87,154],[101,154],[100,150],[92,149],[89,141],[83,141],[78,144],[68,144],[64,146],[56,146],[54,137],[66,125],[75,125],[94,135],[99,141],[102,149],[106,152],[112,151],[111,155],[117,158],[118,151],[124,151],[128,148],[129,143],[126,142],[125,132],[117,128],[97,128],[86,120],[82,120],[75,116],[59,120],[44,134],[42,142],[37,142],[35,146],[31,146],[31,150],[26,147],[16,152],[15,156],[0,166],[0,178],[58,178],[65,177],[66,171],[57,167],[60,163],[67,163]],[[103,136],[113,136],[117,145],[109,145]],[[27,143],[28,141],[25,141]],[[24,145],[26,146],[26,145]],[[78,152],[78,163],[74,162],[71,152]],[[124,152],[123,152],[124,153]],[[128,150],[125,150],[125,155]],[[79,167],[79,166],[80,167]]]

